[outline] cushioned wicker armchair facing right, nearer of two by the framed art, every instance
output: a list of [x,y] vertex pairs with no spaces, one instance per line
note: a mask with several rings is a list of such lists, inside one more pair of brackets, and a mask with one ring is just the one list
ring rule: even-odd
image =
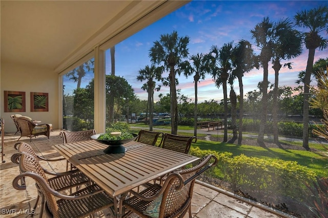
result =
[[[27,117],[14,117],[14,121],[16,121],[17,126],[20,132],[20,138],[22,136],[30,137],[30,142],[32,142],[32,137],[44,135],[49,139],[50,136],[50,125],[49,124],[38,124],[36,125]],[[18,141],[17,140],[17,141]]]

